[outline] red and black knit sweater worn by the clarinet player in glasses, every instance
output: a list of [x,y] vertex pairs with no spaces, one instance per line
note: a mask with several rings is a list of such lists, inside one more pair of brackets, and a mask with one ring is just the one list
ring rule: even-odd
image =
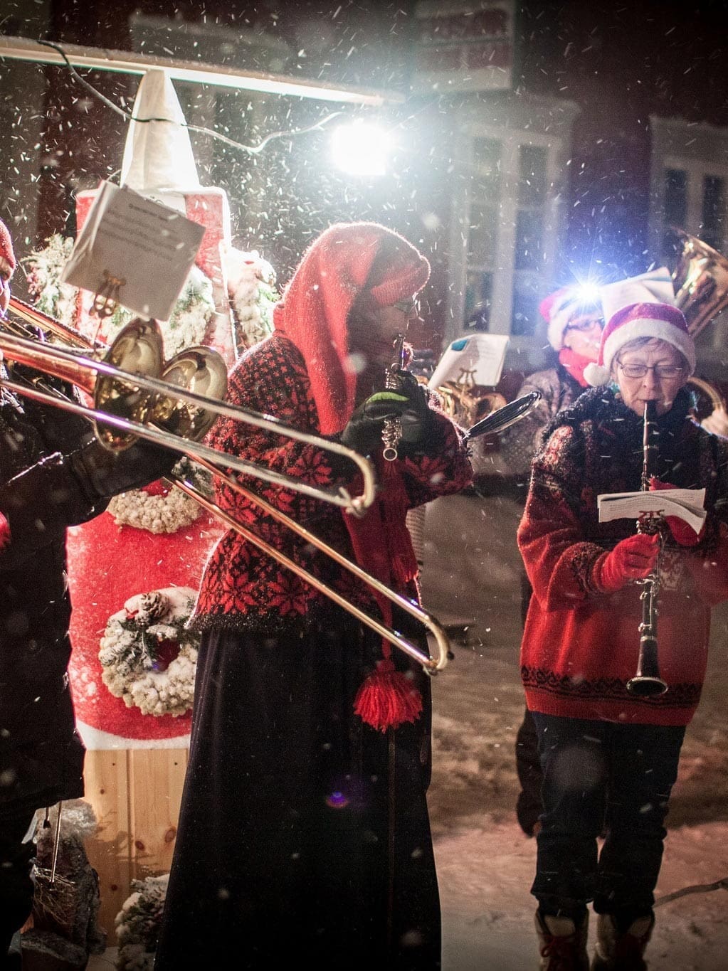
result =
[[607,594],[598,560],[635,532],[631,519],[598,521],[597,496],[641,487],[642,419],[615,391],[593,388],[545,429],[518,545],[534,588],[521,648],[532,711],[578,719],[687,724],[705,677],[711,606],[728,597],[728,440],[688,415],[689,392],[658,419],[660,475],[705,488],[705,535],[690,549],[666,540],[661,556],[658,645],[669,689],[636,698],[641,586]]

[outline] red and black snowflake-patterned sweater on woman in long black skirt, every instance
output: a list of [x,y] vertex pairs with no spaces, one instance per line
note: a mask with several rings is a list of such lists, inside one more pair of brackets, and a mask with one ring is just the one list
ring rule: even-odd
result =
[[[233,369],[227,391],[233,405],[272,415],[285,424],[312,433],[319,432],[316,406],[301,353],[281,334],[246,352]],[[400,450],[397,460],[406,489],[408,507],[458,492],[472,477],[463,433],[431,404],[434,415],[431,454]],[[272,434],[244,422],[221,419],[209,436],[209,444],[265,468],[301,479],[311,485],[332,489],[345,485],[357,491],[357,467],[349,459]],[[380,484],[384,477],[379,476]],[[354,559],[349,532],[340,508],[279,485],[262,483],[255,477],[241,482],[271,505],[324,539],[329,546]],[[216,483],[215,501],[235,519],[252,527],[262,539],[285,552],[305,570],[332,586],[346,599],[371,613],[376,601],[368,586],[325,553],[284,524],[260,512],[250,501],[228,486]],[[403,522],[402,522],[403,525]],[[406,530],[402,530],[405,535]],[[386,543],[387,537],[382,537]],[[407,536],[407,542],[408,536]],[[407,551],[413,554],[410,550]],[[399,589],[417,596],[416,586]],[[323,618],[331,601],[278,564],[267,553],[229,530],[218,542],[206,564],[197,603],[191,619],[195,629],[295,631]]]

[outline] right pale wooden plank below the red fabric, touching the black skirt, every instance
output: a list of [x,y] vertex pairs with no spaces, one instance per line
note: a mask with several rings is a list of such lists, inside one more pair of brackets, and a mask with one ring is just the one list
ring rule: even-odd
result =
[[129,832],[134,879],[169,873],[187,759],[187,749],[129,752]]

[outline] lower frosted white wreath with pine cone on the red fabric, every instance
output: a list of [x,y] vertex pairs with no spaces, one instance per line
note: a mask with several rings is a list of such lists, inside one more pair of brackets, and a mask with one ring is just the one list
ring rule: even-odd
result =
[[191,709],[199,638],[185,624],[195,596],[190,586],[137,593],[108,619],[101,677],[127,708],[155,716]]

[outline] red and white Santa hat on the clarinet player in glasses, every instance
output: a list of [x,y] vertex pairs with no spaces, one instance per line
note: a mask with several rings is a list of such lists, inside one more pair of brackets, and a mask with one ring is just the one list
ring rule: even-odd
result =
[[584,379],[593,386],[611,380],[611,362],[625,344],[640,337],[671,344],[687,360],[690,374],[695,370],[695,344],[681,311],[670,304],[638,303],[622,307],[602,331],[599,359],[584,368]]

